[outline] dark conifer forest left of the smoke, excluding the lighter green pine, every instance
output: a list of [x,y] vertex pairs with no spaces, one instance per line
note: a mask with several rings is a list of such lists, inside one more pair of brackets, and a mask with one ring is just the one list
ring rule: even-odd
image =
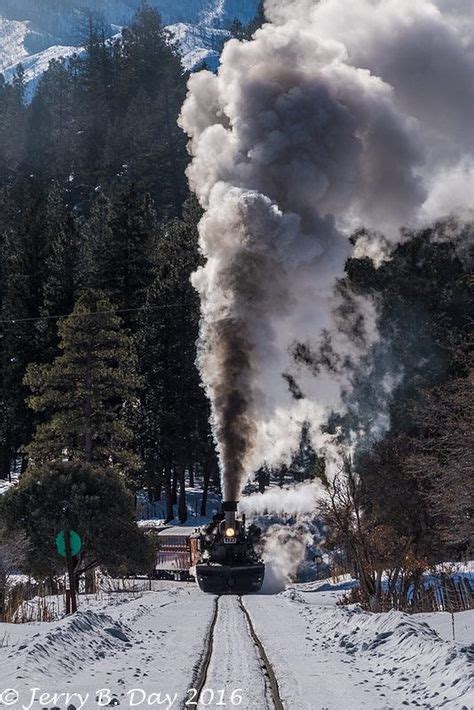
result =
[[[26,466],[37,424],[55,404],[66,406],[56,390],[59,401],[35,412],[25,373],[58,355],[56,316],[71,313],[85,289],[92,309],[118,311],[115,326],[137,363],[128,409],[121,404],[135,454],[130,486],[159,495],[184,468],[191,478],[215,477],[194,366],[199,307],[189,276],[200,214],[176,123],[185,87],[159,16],[147,8],[121,41],[91,22],[86,52],[53,62],[30,105],[21,67],[13,86],[0,86],[2,477],[19,460]],[[107,328],[108,317],[83,327]],[[129,370],[131,361],[120,365]]]

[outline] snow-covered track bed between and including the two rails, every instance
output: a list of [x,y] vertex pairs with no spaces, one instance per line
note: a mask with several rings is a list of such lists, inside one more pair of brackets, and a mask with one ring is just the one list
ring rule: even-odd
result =
[[217,707],[234,693],[242,710],[284,710],[275,673],[242,597],[216,598],[193,686],[198,708]]

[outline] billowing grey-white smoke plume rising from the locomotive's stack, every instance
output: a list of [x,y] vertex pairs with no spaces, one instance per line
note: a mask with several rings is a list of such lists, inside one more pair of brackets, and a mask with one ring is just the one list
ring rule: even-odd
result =
[[190,78],[180,121],[205,209],[199,364],[226,498],[287,455],[304,421],[316,435],[377,337],[362,299],[335,327],[348,234],[393,241],[471,206],[471,10],[267,0],[254,39],[230,41],[217,76]]

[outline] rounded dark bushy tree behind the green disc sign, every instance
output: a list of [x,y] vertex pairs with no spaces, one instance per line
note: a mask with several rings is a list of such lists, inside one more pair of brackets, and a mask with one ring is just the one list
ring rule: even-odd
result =
[[2,496],[0,526],[9,537],[26,537],[22,568],[39,579],[64,573],[54,540],[66,522],[81,536],[83,567],[143,574],[152,569],[154,555],[134,512],[132,495],[110,469],[56,461],[28,470]]

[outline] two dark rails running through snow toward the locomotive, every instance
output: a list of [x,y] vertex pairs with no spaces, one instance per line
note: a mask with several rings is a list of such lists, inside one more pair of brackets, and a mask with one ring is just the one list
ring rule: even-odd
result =
[[[221,600],[223,597],[216,597],[215,600],[215,607],[214,607],[214,614],[212,617],[211,624],[209,626],[209,631],[206,636],[206,641],[205,641],[205,647],[204,647],[204,653],[202,655],[201,663],[199,665],[199,668],[197,670],[197,673],[194,678],[193,682],[193,688],[196,692],[196,695],[194,696],[193,700],[194,702],[192,703],[192,707],[194,707],[196,710],[202,710],[204,707],[213,707],[212,703],[207,701],[204,701],[203,693],[204,691],[209,693],[209,688],[212,688],[212,685],[216,685],[216,679],[214,678],[214,682],[212,681],[212,678],[209,677],[210,674],[210,666],[212,661],[215,659],[215,656],[218,654],[223,653],[222,649],[216,649],[217,643],[216,643],[216,626],[218,625],[219,621],[219,615],[220,613],[223,613],[223,610],[221,611],[220,606],[221,606]],[[250,617],[250,614],[248,610],[245,607],[244,601],[241,596],[239,597],[225,597],[227,606],[229,605],[229,599],[233,599],[236,601],[236,605],[234,605],[234,608],[231,609],[231,611],[235,612],[236,608],[239,610],[239,613],[242,615],[241,621],[244,622],[245,628],[248,633],[248,639],[249,642],[251,642],[253,648],[255,649],[256,656],[259,661],[259,669],[262,675],[261,681],[262,681],[262,689],[264,689],[264,694],[265,698],[267,701],[267,706],[269,710],[285,710],[283,702],[280,697],[280,690],[278,687],[278,681],[275,676],[275,672],[273,670],[272,664],[270,663],[268,656],[266,654],[265,648],[258,638],[254,625],[252,623],[252,619]],[[227,610],[228,613],[228,610]],[[225,619],[225,617],[224,617]],[[233,630],[228,629],[230,636],[232,636]],[[224,649],[225,653],[225,649]],[[250,654],[252,655],[252,654]],[[219,659],[217,659],[219,660]],[[223,659],[220,659],[221,662],[223,662]],[[240,659],[242,660],[242,659]],[[251,659],[243,659],[244,664],[246,662],[251,661]],[[229,662],[232,662],[232,659],[229,659]],[[215,675],[215,669],[214,669],[214,675]],[[263,698],[262,698],[263,700]],[[223,703],[218,703],[218,705],[222,705]],[[188,705],[183,704],[183,708],[189,708],[189,703]],[[230,706],[230,705],[229,705]],[[254,705],[245,705],[245,697],[243,699],[242,704],[240,705],[241,710],[249,710],[250,707],[256,707]],[[259,705],[259,707],[261,707]]]

